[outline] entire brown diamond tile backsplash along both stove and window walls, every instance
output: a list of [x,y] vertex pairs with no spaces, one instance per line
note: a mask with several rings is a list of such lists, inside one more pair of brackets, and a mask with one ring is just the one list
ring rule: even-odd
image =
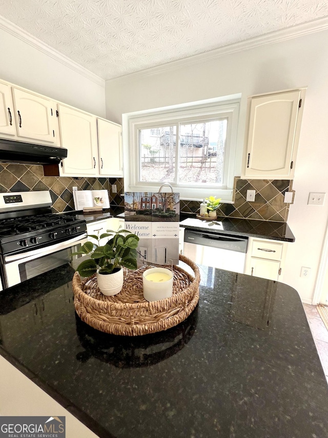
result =
[[[116,185],[116,193],[112,185]],[[289,204],[283,202],[284,193],[292,191],[291,180],[234,180],[233,204],[221,204],[218,216],[286,222]],[[43,166],[29,164],[0,164],[0,192],[29,192],[49,190],[56,212],[74,210],[73,186],[78,190],[106,189],[111,206],[124,206],[123,178],[45,177]],[[247,191],[255,190],[255,201],[246,200]],[[199,213],[199,201],[180,200],[181,213]]]

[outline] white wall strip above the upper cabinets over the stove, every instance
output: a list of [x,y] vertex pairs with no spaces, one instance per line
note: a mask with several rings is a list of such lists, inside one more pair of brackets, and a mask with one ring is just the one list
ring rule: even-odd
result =
[[105,83],[99,85],[3,29],[0,79],[105,117]]

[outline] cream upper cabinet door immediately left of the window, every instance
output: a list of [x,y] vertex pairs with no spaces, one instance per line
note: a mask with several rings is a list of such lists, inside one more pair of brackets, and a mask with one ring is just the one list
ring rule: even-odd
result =
[[99,146],[99,173],[110,177],[122,177],[122,128],[120,125],[97,120]]

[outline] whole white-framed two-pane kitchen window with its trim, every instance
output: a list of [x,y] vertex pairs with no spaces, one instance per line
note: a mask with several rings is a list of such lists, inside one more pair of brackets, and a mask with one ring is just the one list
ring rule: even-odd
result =
[[128,115],[129,190],[156,191],[169,182],[181,199],[231,200],[238,111],[234,99]]

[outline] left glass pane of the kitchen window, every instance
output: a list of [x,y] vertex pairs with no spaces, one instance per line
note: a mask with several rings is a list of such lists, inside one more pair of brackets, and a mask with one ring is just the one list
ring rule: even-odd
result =
[[140,181],[174,182],[176,126],[139,129]]

